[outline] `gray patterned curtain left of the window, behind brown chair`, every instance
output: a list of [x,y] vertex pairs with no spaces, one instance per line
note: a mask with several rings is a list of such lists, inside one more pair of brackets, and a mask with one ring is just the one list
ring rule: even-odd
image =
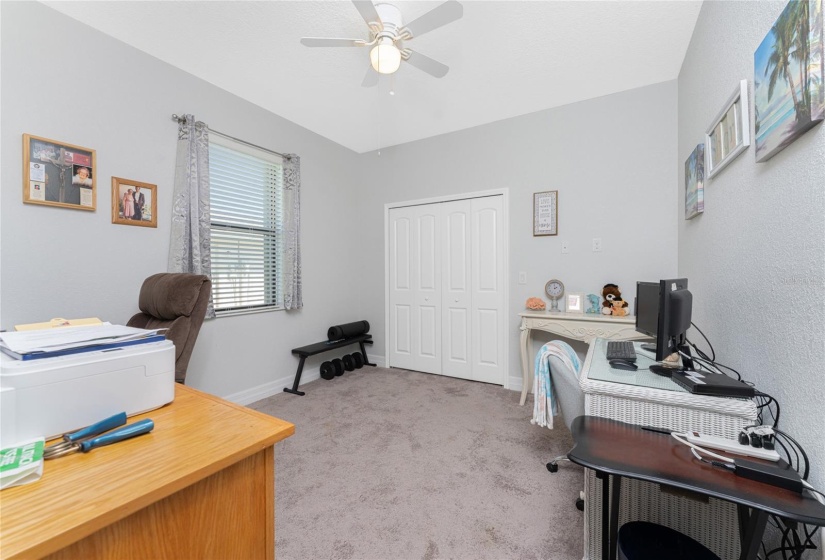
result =
[[[169,272],[191,272],[212,278],[209,233],[209,127],[184,115],[178,126],[175,188],[172,198],[172,239]],[[206,308],[215,317],[212,298]]]

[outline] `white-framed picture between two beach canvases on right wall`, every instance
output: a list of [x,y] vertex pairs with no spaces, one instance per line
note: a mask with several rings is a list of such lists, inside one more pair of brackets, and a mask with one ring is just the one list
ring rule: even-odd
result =
[[748,81],[742,80],[705,132],[705,173],[708,179],[751,145]]

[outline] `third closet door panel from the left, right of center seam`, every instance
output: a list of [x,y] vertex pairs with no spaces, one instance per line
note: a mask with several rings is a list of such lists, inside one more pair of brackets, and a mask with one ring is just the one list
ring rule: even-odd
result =
[[446,202],[442,207],[442,373],[471,379],[470,201]]

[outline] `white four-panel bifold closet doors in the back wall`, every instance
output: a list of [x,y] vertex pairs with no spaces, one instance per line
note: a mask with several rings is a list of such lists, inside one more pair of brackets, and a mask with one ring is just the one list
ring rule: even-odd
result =
[[390,366],[504,383],[502,212],[502,196],[390,209]]

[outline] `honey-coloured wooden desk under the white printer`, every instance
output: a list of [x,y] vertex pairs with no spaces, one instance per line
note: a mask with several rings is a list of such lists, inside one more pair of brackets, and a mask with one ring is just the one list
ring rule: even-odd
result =
[[3,490],[0,557],[274,558],[273,445],[295,427],[183,385],[141,418],[152,433]]

